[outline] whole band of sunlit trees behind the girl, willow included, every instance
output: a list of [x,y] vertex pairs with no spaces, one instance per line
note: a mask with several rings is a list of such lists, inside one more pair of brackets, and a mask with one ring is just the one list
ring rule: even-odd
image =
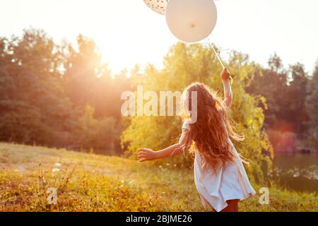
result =
[[[24,30],[21,37],[0,37],[0,141],[88,150],[113,146],[121,153],[119,138],[126,129],[122,146],[128,147],[130,154],[144,146],[158,150],[177,141],[180,119],[122,119],[123,91],[134,91],[138,84],[156,92],[182,91],[193,81],[222,90],[220,65],[211,49],[200,44],[175,44],[162,70],[149,65],[141,73],[136,66],[130,77],[126,69],[116,75],[110,71],[94,40],[78,35],[77,47],[68,42],[54,43],[45,31],[32,28]],[[298,139],[310,143],[307,146],[317,148],[317,142],[312,142],[317,141],[317,76],[309,79],[301,64],[283,69],[276,55],[269,60],[268,69],[237,52],[230,54],[227,63],[236,74],[232,119],[247,138],[235,145],[255,162],[255,167],[264,159],[269,162],[267,157],[259,157],[259,150],[271,153],[267,136],[260,131],[263,121],[264,129],[296,133]],[[92,120],[98,124],[93,131],[81,125],[80,119],[88,117],[87,105],[94,109]],[[89,138],[88,133],[95,138]],[[258,143],[255,145],[249,141],[254,135],[260,139],[252,141]],[[192,165],[189,157],[185,162],[181,159],[172,162]]]

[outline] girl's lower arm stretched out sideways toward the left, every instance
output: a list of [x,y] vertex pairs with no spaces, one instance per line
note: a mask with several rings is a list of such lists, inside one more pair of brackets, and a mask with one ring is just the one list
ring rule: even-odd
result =
[[148,148],[140,148],[138,150],[139,162],[158,160],[160,158],[181,155],[182,153],[184,153],[184,150],[187,150],[187,148],[189,148],[189,139],[187,136],[188,132],[189,131],[187,129],[184,129],[182,131],[182,136],[179,139],[179,143],[171,145],[170,147],[165,148],[163,150],[153,151]]

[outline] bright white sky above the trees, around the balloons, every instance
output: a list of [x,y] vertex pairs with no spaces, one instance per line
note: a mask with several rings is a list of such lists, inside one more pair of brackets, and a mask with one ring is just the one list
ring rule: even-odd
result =
[[[114,73],[160,68],[177,42],[165,16],[143,0],[0,0],[0,37],[41,28],[56,42],[76,43],[79,33],[93,38]],[[230,49],[266,66],[276,52],[284,66],[300,62],[312,73],[318,60],[317,0],[218,0],[218,22],[209,39],[225,58]]]

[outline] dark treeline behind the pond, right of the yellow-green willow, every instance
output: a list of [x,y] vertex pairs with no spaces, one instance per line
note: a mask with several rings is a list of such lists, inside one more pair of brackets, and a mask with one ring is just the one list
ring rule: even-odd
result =
[[266,98],[265,124],[276,153],[310,153],[318,147],[318,62],[314,73],[302,64],[285,68],[274,54],[247,91]]

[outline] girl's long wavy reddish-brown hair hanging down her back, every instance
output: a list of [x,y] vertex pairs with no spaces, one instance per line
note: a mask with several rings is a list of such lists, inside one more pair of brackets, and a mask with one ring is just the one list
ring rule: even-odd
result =
[[244,137],[235,132],[227,116],[227,109],[217,93],[202,83],[189,85],[182,95],[183,118],[191,117],[192,92],[196,92],[197,118],[189,124],[187,141],[192,141],[195,151],[199,152],[204,169],[216,169],[228,162],[237,162],[237,154],[232,152],[230,138],[242,141]]

